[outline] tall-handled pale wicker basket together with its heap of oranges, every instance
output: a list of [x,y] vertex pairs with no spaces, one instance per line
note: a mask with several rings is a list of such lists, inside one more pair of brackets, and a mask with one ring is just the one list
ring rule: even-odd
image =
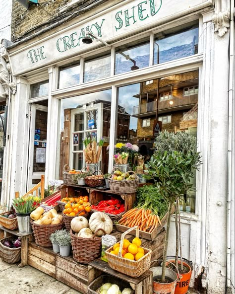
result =
[[[133,229],[136,229],[136,235],[130,243],[124,237]],[[121,235],[120,243],[116,243],[106,250],[109,266],[132,278],[140,277],[150,268],[152,253],[152,250],[140,246],[139,228],[134,226]]]

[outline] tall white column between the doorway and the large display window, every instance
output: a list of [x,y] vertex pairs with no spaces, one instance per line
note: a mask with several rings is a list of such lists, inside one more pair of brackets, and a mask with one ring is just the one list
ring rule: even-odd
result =
[[52,90],[57,88],[58,68],[49,68],[49,90],[48,90],[48,126],[47,126],[47,151],[46,151],[46,171],[45,185],[49,180],[56,177],[56,151],[57,151],[57,131],[59,117],[59,100],[52,96]]

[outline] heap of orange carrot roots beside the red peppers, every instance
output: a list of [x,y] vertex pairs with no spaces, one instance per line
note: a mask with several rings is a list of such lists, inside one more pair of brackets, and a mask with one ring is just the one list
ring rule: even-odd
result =
[[157,228],[158,223],[162,225],[155,211],[144,209],[143,207],[132,208],[122,216],[118,223],[128,227],[137,225],[141,231],[149,233],[151,233],[154,228]]

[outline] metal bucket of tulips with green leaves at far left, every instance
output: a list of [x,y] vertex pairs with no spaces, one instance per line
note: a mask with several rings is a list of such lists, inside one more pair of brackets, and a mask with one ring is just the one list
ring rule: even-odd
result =
[[13,199],[12,205],[16,211],[19,232],[21,234],[31,233],[30,214],[40,206],[41,197],[28,195]]

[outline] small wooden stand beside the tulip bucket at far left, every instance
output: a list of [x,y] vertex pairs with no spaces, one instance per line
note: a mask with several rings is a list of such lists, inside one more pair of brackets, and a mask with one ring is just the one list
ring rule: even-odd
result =
[[19,267],[26,266],[28,264],[28,242],[33,240],[33,234],[21,234],[18,230],[9,230],[3,226],[0,226],[0,239],[17,236],[21,238],[21,261]]

